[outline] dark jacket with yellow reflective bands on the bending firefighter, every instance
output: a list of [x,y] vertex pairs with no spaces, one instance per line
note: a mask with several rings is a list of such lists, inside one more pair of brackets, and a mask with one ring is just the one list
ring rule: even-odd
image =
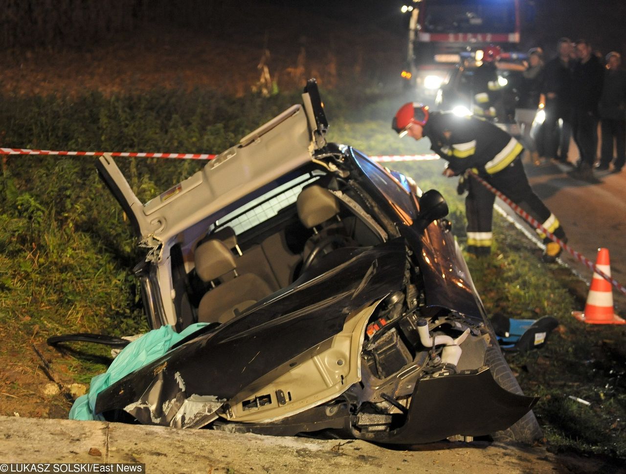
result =
[[498,173],[523,150],[515,138],[493,123],[451,112],[431,112],[423,134],[455,174],[466,169],[483,175]]

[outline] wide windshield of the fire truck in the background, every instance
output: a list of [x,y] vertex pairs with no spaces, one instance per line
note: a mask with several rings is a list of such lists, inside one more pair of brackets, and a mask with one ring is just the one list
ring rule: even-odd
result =
[[424,33],[515,33],[513,0],[438,0],[423,8]]

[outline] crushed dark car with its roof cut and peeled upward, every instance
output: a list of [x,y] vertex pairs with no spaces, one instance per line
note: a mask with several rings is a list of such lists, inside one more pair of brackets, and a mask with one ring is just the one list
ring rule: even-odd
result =
[[500,353],[441,194],[326,143],[326,128],[311,80],[302,104],[145,204],[100,159],[148,249],[136,274],[151,327],[205,324],[101,391],[94,412],[382,443],[530,441],[536,398]]

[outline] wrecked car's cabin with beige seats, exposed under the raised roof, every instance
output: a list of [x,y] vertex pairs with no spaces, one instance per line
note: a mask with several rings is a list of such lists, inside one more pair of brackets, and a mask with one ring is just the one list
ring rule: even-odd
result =
[[[383,241],[363,221],[365,205],[349,184],[308,171],[287,185],[210,224],[193,248],[192,270],[185,270],[190,256],[182,246],[172,248],[175,306],[184,326],[225,323]],[[337,187],[342,192],[329,189]],[[346,204],[333,191],[353,199]]]

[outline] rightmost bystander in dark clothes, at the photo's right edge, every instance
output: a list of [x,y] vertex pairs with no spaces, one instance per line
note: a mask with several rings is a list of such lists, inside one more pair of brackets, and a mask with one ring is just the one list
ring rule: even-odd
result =
[[626,161],[626,71],[620,69],[622,56],[615,51],[607,54],[607,69],[604,73],[604,86],[598,109],[600,132],[602,133],[602,153],[597,169],[608,169],[613,161],[613,138],[617,156],[613,172],[622,171]]

